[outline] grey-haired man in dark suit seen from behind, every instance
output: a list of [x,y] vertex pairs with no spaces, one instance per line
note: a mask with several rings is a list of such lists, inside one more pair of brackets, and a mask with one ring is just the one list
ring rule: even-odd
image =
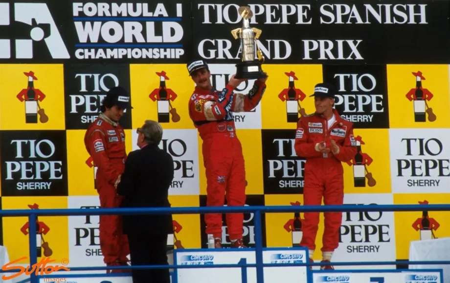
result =
[[[121,207],[170,207],[169,187],[174,178],[174,161],[159,149],[162,127],[147,120],[137,129],[140,149],[130,152],[125,171],[117,184],[124,196]],[[128,235],[132,265],[167,265],[167,235],[172,215],[124,215],[123,233]],[[133,269],[133,283],[170,283],[169,269]]]

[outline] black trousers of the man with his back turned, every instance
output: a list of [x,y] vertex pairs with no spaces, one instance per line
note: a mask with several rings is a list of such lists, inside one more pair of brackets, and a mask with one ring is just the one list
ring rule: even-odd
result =
[[[128,234],[131,265],[168,265],[167,234]],[[132,269],[133,283],[170,283],[169,269]]]

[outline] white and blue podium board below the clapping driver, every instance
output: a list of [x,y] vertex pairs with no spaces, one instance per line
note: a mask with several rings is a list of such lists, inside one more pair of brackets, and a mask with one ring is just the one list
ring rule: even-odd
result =
[[313,283],[444,283],[442,269],[313,271]]

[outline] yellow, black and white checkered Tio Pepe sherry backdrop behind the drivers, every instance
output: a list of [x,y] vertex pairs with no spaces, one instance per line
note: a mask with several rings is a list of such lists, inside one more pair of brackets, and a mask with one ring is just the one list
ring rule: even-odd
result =
[[[162,26],[159,25],[160,21],[148,20],[150,18],[133,22],[141,24],[146,21],[147,31],[152,30],[152,24],[155,24],[154,27],[159,28],[159,31],[161,28],[165,31],[162,34],[147,34],[147,42],[168,42],[171,36],[172,43],[182,41],[181,47],[169,46],[170,44],[166,46],[169,50],[166,58],[158,58],[161,55],[158,52],[162,49],[144,46],[147,49],[154,48],[151,51],[153,57],[144,59],[143,55],[135,53],[138,45],[135,45],[135,49],[114,45],[113,43],[118,41],[108,39],[103,31],[100,31],[101,39],[94,44],[92,35],[89,35],[90,41],[86,40],[87,34],[80,30],[90,23],[95,30],[95,22],[105,23],[106,20],[101,17],[114,16],[122,6],[111,6],[108,10],[110,14],[100,15],[95,5],[72,6],[70,3],[70,6],[67,6],[65,3],[58,8],[56,1],[39,5],[31,2],[27,5],[36,11],[48,11],[47,14],[44,13],[44,18],[32,16],[29,10],[16,2],[0,3],[0,13],[4,11],[2,8],[15,11],[16,14],[8,14],[11,15],[8,18],[10,27],[18,24],[19,12],[30,19],[40,17],[38,22],[48,23],[50,35],[58,33],[65,48],[56,51],[51,47],[59,44],[57,37],[47,37],[45,42],[38,42],[35,38],[37,35],[31,32],[32,38],[26,44],[34,47],[31,48],[31,53],[27,53],[29,46],[16,40],[23,35],[19,34],[19,31],[14,34],[10,29],[9,33],[2,33],[5,27],[0,26],[1,208],[98,208],[98,195],[94,189],[96,168],[85,150],[83,136],[89,123],[98,115],[100,101],[114,85],[121,85],[130,91],[134,107],[131,112],[127,111],[120,121],[125,128],[127,152],[137,149],[137,127],[147,119],[159,121],[164,128],[160,147],[173,156],[176,166],[175,179],[169,191],[172,206],[204,206],[206,179],[201,152],[202,141],[188,116],[187,103],[194,83],[187,75],[186,61],[192,56],[206,58],[211,63],[212,84],[219,89],[225,87],[230,76],[235,73],[236,59],[240,58],[239,42],[232,41],[229,34],[231,27],[239,27],[242,20],[236,16],[230,18],[229,10],[235,6],[230,4],[229,7],[222,7],[220,2],[211,1],[213,4],[210,4],[208,18],[204,12],[205,4],[199,1],[193,1],[193,7],[199,9],[193,9],[192,12],[188,1],[179,1],[176,5],[164,3],[165,10],[161,6],[158,8],[156,4],[148,4],[151,7],[145,9],[151,10],[154,15],[136,10],[135,14],[140,13],[140,16],[180,17],[180,21],[178,18],[162,21]],[[288,4],[281,6],[281,2]],[[398,15],[402,13],[398,11],[404,10],[397,10],[397,18],[394,19],[398,26],[405,28],[402,32],[395,28],[396,25],[373,24],[372,18],[372,22],[365,27],[355,27],[355,30],[365,29],[367,33],[371,30],[390,31],[380,37],[398,38],[389,41],[389,44],[380,45],[380,49],[374,49],[373,42],[385,40],[375,40],[375,36],[369,38],[364,35],[364,40],[360,43],[362,45],[358,45],[360,55],[365,58],[362,60],[355,57],[355,53],[352,55],[353,49],[347,47],[341,50],[345,54],[340,54],[340,49],[320,53],[320,50],[330,46],[319,40],[316,40],[316,43],[314,40],[310,43],[298,43],[298,50],[288,48],[287,46],[293,47],[297,44],[293,36],[295,33],[288,34],[284,26],[276,27],[273,22],[277,19],[280,20],[279,23],[289,23],[293,28],[307,27],[302,35],[304,39],[311,35],[311,29],[315,25],[321,28],[317,27],[318,33],[335,40],[345,39],[345,33],[348,31],[342,30],[340,34],[336,34],[335,26],[339,25],[328,24],[326,29],[317,17],[312,18],[311,26],[301,25],[299,19],[306,24],[312,11],[321,11],[316,1],[310,1],[305,6],[295,6],[289,4],[289,1],[281,2],[276,4],[277,7],[280,5],[280,10],[274,10],[273,19],[270,18],[268,5],[259,5],[253,1],[250,3],[257,12],[256,18],[250,21],[250,24],[263,29],[260,40],[261,44],[266,46],[263,51],[267,58],[262,68],[269,75],[269,80],[261,103],[250,112],[235,115],[237,136],[242,142],[246,160],[247,205],[303,204],[305,160],[298,158],[293,151],[294,132],[298,113],[314,112],[314,100],[309,95],[313,93],[314,85],[320,81],[329,81],[337,86],[339,93],[336,108],[355,125],[358,154],[353,161],[343,164],[345,203],[449,203],[450,191],[447,184],[450,176],[450,148],[445,141],[450,135],[450,72],[447,64],[450,40],[448,35],[440,35],[441,31],[436,28],[441,24],[441,18],[432,17],[439,16],[439,13],[448,13],[448,2],[428,1],[425,6],[414,2],[418,14],[416,18],[408,18],[411,22],[408,26],[399,23],[401,18],[398,18]],[[376,6],[376,3],[378,1],[374,1],[372,5]],[[323,5],[325,10],[321,12],[321,19],[330,20],[330,15],[335,15],[334,20],[330,21],[337,23],[337,7],[331,4],[326,6],[325,1]],[[224,7],[228,7],[227,10]],[[355,7],[361,9],[361,6]],[[421,7],[423,11],[420,10]],[[160,15],[157,15],[157,11]],[[297,15],[295,11],[303,11],[305,17],[298,16],[303,14]],[[331,11],[331,14],[326,14],[326,11]],[[419,13],[421,11],[423,14]],[[190,13],[192,19],[189,18]],[[287,14],[289,17],[283,18],[283,15]],[[344,15],[344,22],[350,22],[349,13],[344,14],[347,15]],[[129,17],[136,15],[130,14]],[[324,18],[324,15],[329,18]],[[406,15],[406,18],[410,16],[407,13],[402,15]],[[422,19],[426,23],[420,21],[419,17],[425,17],[423,15],[426,15],[426,18]],[[100,18],[80,18],[84,16]],[[225,23],[221,24],[221,20]],[[272,25],[268,25],[268,35],[263,39],[263,23],[270,24],[270,20]],[[126,26],[125,21],[109,21],[110,24],[114,22],[120,22],[125,31],[128,31],[128,35],[130,34],[131,26]],[[191,22],[199,30],[198,35],[191,34]],[[28,22],[22,22],[23,24],[30,25]],[[35,23],[31,26],[33,24]],[[175,38],[178,35],[178,25],[183,27],[182,39]],[[100,24],[97,31],[99,27]],[[45,28],[43,30],[47,33]],[[174,33],[168,32],[169,30]],[[211,32],[212,30],[217,33]],[[352,28],[350,30],[355,31]],[[405,38],[408,32],[418,30],[424,32],[422,36],[428,37],[429,42],[439,42],[439,47],[421,44],[413,48],[409,44],[401,44],[400,39]],[[158,36],[161,38],[158,39]],[[12,42],[8,45],[10,48],[2,45],[6,42],[3,38],[10,40],[9,43]],[[149,41],[149,38],[152,39]],[[79,41],[71,44],[73,40]],[[121,42],[136,44],[140,41],[136,37],[124,36]],[[231,49],[226,51],[228,42]],[[112,49],[104,52],[106,57],[101,55],[103,43],[106,47],[112,46]],[[264,45],[266,43],[269,45]],[[285,44],[284,47],[282,44]],[[434,52],[424,49],[428,45],[436,47]],[[45,50],[42,56],[38,46],[45,47],[42,49]],[[307,46],[310,46],[311,50],[308,51]],[[214,51],[214,48],[219,49]],[[315,53],[312,50],[314,48]],[[441,52],[441,48],[446,54]],[[67,54],[61,50],[66,50]],[[177,57],[179,50],[182,50],[183,54]],[[207,50],[211,53],[207,53]],[[124,53],[120,57],[122,51]],[[418,56],[419,53],[421,57]],[[88,54],[96,54],[97,57],[88,57]],[[332,54],[335,54],[334,59],[331,58]],[[350,62],[346,59],[352,60]],[[163,74],[166,76],[166,87],[172,94],[168,100],[161,101],[158,100],[158,88]],[[237,91],[247,93],[252,84],[253,81],[243,82]],[[25,99],[28,86],[34,87],[35,100]],[[296,95],[292,95],[290,87],[297,90]],[[180,116],[180,121],[174,122],[173,117],[177,115]],[[303,219],[302,214],[300,217]],[[344,213],[340,245],[334,260],[405,260],[408,258],[409,242],[420,239],[418,223],[421,217],[422,213],[418,212]],[[429,217],[440,225],[434,227],[436,237],[450,236],[449,213],[432,212]],[[290,213],[264,215],[264,245],[293,246],[293,218],[294,215]],[[206,246],[203,216],[176,215],[174,220],[177,248]],[[10,258],[17,259],[27,255],[27,219],[3,218],[0,221],[3,225],[0,241],[8,248]],[[39,221],[45,231],[41,243],[48,243],[53,252],[53,259],[58,261],[67,258],[71,265],[78,266],[103,264],[99,248],[98,217],[40,217]],[[322,232],[323,218],[316,240],[317,250],[322,245]],[[252,214],[245,216],[244,235],[245,242],[250,246],[254,245]],[[225,218],[223,241],[229,242]],[[45,248],[39,252],[43,256]],[[315,259],[319,258],[320,254],[315,253]],[[27,263],[27,260],[21,263]]]

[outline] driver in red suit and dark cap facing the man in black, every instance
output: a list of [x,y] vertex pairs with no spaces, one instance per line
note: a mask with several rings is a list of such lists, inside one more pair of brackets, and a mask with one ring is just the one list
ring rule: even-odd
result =
[[[84,143],[97,168],[97,192],[101,208],[119,207],[122,197],[116,187],[127,158],[125,132],[118,120],[129,105],[129,95],[121,87],[112,88],[102,101],[101,112],[85,134]],[[100,215],[100,248],[107,266],[128,265],[127,236],[122,233],[121,215]],[[111,272],[128,270],[112,269]],[[110,271],[108,270],[107,273]]]

